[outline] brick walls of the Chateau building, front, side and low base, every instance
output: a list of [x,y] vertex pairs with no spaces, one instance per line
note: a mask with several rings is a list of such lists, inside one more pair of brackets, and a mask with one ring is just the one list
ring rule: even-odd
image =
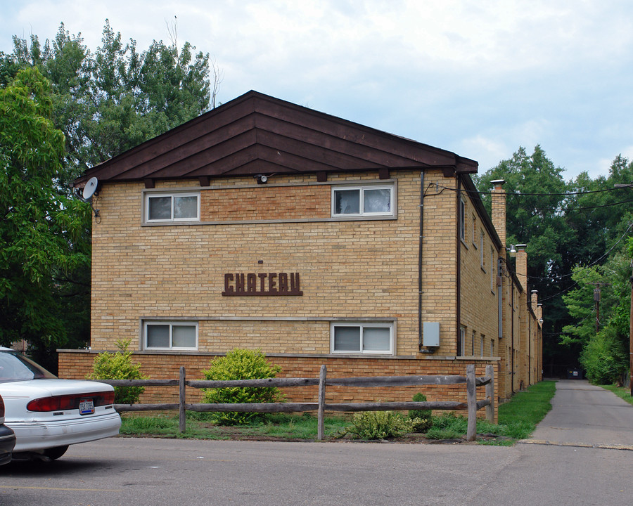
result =
[[[392,185],[394,216],[331,218],[332,188],[341,183]],[[525,291],[497,275],[504,251],[468,193],[458,189],[456,177],[433,169],[424,171],[423,180],[420,171],[399,170],[386,180],[367,171],[331,174],[325,182],[276,176],[265,186],[248,177],[216,179],[208,187],[196,180],[158,181],[150,190],[141,182],[103,185],[94,202],[100,218],[93,226],[91,350],[60,351],[60,376],[84,377],[95,353],[113,351],[117,339],[130,339],[134,359],[153,378],[177,377],[185,365],[188,378],[200,379],[214,356],[236,347],[259,348],[286,377],[318,377],[321,364],[330,377],[465,375],[467,363],[484,375],[492,364],[498,396],[507,398],[521,382],[539,379],[537,346],[525,354],[527,336],[531,332],[535,340],[538,325],[527,325]],[[146,223],[146,195],[174,190],[200,192],[200,222]],[[299,273],[302,295],[224,297],[227,273]],[[440,323],[440,347],[434,353],[419,346],[418,311],[423,322]],[[197,350],[146,350],[143,322],[155,320],[196,322]],[[333,353],[335,321],[392,323],[394,352]],[[462,331],[463,353],[458,349]],[[328,396],[331,401],[410,400],[415,391],[424,391],[429,400],[465,398],[463,386],[331,389]],[[148,389],[143,401],[169,401],[175,394]],[[189,395],[199,398],[200,393]],[[310,389],[288,389],[286,395],[298,401],[316,398]]]

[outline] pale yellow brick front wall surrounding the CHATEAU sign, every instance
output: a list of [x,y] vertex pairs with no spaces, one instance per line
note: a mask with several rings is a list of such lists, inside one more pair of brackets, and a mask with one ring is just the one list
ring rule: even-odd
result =
[[[375,175],[355,177],[376,180]],[[340,179],[344,180],[350,181]],[[283,183],[283,179],[279,181]],[[260,191],[254,182],[248,183],[251,186],[242,188],[243,193]],[[162,186],[186,187],[180,182],[157,184],[159,189]],[[329,214],[329,185],[324,186],[326,191],[321,186],[302,188],[316,188],[314,194],[323,200],[321,212]],[[289,188],[280,186],[276,191],[285,195]],[[268,321],[385,318],[397,319],[397,354],[415,354],[419,192],[420,183],[413,173],[398,173],[397,219],[142,226],[143,186],[106,185],[98,201],[101,222],[93,230],[91,346],[114,349],[116,339],[123,338],[132,339],[132,348],[139,348],[143,319],[177,317],[205,322],[212,318],[209,321],[214,323],[200,324],[200,351],[222,352],[256,343],[267,353],[322,353],[329,346],[324,322],[280,323],[274,329],[267,324],[264,333],[264,327],[257,330],[254,323],[219,321],[245,322],[253,316]],[[238,200],[227,203],[229,215],[230,206]],[[429,220],[424,244],[423,318],[442,323],[440,353],[451,354],[455,218],[452,201],[445,197],[428,200],[429,216],[435,219]],[[447,226],[451,231],[448,238],[443,232]],[[260,272],[300,273],[303,296],[222,297],[224,273]],[[288,331],[295,334],[288,335]],[[217,349],[219,336],[229,346]]]

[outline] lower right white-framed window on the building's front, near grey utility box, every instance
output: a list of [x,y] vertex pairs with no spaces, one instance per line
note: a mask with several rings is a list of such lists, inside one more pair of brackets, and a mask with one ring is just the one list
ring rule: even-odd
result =
[[393,354],[393,323],[332,322],[332,353]]

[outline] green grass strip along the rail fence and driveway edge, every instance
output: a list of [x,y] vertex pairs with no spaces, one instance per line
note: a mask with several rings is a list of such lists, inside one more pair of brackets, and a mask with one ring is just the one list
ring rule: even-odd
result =
[[[622,389],[624,390],[624,389]],[[499,423],[477,421],[482,444],[509,446],[525,439],[551,409],[556,382],[540,382],[518,392],[511,401],[499,406]],[[630,399],[630,396],[629,396]],[[629,400],[629,402],[632,402]],[[326,417],[325,437],[334,439],[347,432],[349,417]],[[248,425],[222,427],[212,423],[209,413],[187,413],[186,432],[178,434],[178,416],[172,414],[141,415],[124,413],[121,434],[133,436],[179,437],[189,439],[286,439],[316,440],[316,416],[309,413],[288,415],[267,414]],[[463,439],[468,420],[454,413],[433,417],[427,439]],[[483,437],[485,435],[485,437]],[[418,435],[419,436],[419,435]]]

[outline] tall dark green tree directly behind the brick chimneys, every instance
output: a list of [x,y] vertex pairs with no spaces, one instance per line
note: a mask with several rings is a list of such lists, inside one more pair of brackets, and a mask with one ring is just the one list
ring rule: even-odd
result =
[[585,257],[571,247],[576,233],[565,216],[570,186],[563,179],[563,169],[556,167],[539,145],[531,155],[519,148],[510,160],[475,178],[489,212],[490,181],[494,179],[506,181],[506,241],[508,245],[527,245],[528,290],[538,290],[539,299],[546,301],[545,363],[575,361],[580,349],[558,345],[563,326],[573,323],[561,293],[572,285],[571,268]]

